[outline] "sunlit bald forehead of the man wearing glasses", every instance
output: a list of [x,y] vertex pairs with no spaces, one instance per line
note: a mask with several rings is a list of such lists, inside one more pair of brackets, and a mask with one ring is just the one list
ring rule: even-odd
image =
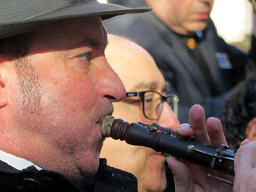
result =
[[146,50],[127,39],[118,41],[110,37],[108,41],[107,60],[119,74],[127,91],[165,88],[165,81]]

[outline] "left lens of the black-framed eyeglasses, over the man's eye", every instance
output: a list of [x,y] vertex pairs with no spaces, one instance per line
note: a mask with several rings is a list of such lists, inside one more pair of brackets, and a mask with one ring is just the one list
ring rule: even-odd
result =
[[161,96],[157,92],[146,92],[144,95],[144,114],[148,119],[159,119],[162,111]]

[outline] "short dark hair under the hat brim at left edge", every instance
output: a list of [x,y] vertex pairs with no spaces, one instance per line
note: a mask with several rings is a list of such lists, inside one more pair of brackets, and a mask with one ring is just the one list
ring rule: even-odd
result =
[[10,38],[0,39],[0,54],[14,59],[27,55],[30,51],[34,32],[27,32]]

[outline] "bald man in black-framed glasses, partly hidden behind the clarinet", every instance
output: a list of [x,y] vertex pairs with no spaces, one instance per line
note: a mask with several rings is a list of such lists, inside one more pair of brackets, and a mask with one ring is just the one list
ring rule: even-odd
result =
[[[147,51],[126,38],[108,35],[105,54],[126,90],[125,100],[113,104],[113,116],[128,122],[157,122],[176,130],[179,122],[174,111],[177,112],[178,98],[166,96],[164,77]],[[133,173],[139,192],[160,192],[167,187],[166,158],[151,148],[107,138],[101,157],[107,158],[108,165]],[[171,183],[167,191],[172,190]]]

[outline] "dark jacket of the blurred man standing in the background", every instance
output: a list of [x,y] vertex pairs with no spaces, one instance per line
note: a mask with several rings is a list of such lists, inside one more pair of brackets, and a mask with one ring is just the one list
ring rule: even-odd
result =
[[109,33],[135,40],[154,57],[169,83],[168,90],[180,98],[181,123],[188,122],[189,108],[195,103],[205,108],[207,117],[220,117],[229,91],[245,78],[247,55],[219,38],[212,20],[196,45],[207,74],[201,71],[201,63],[189,54],[178,35],[152,13],[122,15],[104,24]]

